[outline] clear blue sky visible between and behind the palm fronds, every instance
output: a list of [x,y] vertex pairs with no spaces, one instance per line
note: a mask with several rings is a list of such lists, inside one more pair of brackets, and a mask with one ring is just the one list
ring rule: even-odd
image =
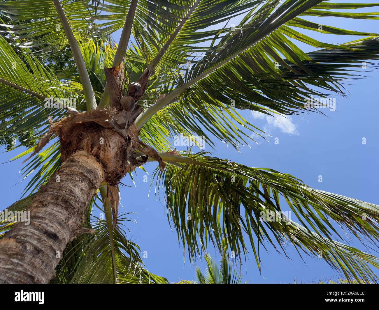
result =
[[[312,20],[319,21],[314,18]],[[322,20],[326,25],[351,30],[375,32],[378,29],[378,22],[375,20]],[[230,24],[232,23],[235,22],[230,21]],[[331,37],[315,32],[312,32],[312,36],[326,42],[338,43],[355,39],[348,36]],[[114,39],[118,41],[118,33],[114,35]],[[305,51],[314,50],[304,45],[301,47]],[[218,142],[217,151],[213,151],[213,155],[251,167],[267,167],[290,173],[311,187],[379,204],[379,183],[376,177],[379,174],[379,72],[368,72],[368,69],[362,69],[362,72],[367,78],[350,81],[346,85],[347,98],[340,95],[331,96],[336,99],[336,111],[323,109],[326,116],[311,113],[279,117],[275,120],[261,115],[253,116],[250,111],[243,111],[242,115],[248,121],[258,128],[265,129],[272,137],[268,138],[268,142],[258,139],[259,145],[251,143],[251,148],[245,146],[240,153]],[[275,138],[279,138],[279,144],[274,143]],[[366,138],[366,144],[362,144],[362,138]],[[1,153],[0,162],[8,161],[20,153],[19,150]],[[211,151],[207,146],[205,150]],[[193,151],[196,151],[195,148]],[[0,165],[2,209],[19,199],[27,184],[27,180],[20,183],[21,162],[22,160],[16,160]],[[150,174],[155,167],[155,163],[145,166]],[[178,242],[176,232],[171,231],[169,227],[163,201],[155,199],[153,188],[148,198],[150,184],[143,182],[144,174],[139,169],[135,177],[137,188],[128,177],[122,181],[132,187],[121,187],[120,212],[137,212],[131,217],[138,223],[127,224],[130,229],[128,237],[140,246],[141,251],[147,251],[144,263],[150,272],[167,277],[172,282],[180,279],[192,280],[195,277],[195,267],[200,266],[204,270],[205,261],[199,258],[191,265],[188,257],[183,257],[183,247]],[[322,182],[319,182],[320,175]],[[349,244],[364,249],[354,238]],[[251,249],[249,246],[247,248]],[[250,283],[293,283],[294,279],[297,282],[311,282],[313,279],[338,277],[338,273],[323,260],[307,255],[301,259],[291,245],[287,248],[290,259],[278,254],[270,246],[268,252],[262,250],[262,273],[257,269],[252,252],[248,253],[246,262],[238,265],[244,274],[243,280],[249,280]],[[209,252],[213,258],[219,259],[219,255],[213,249]],[[379,272],[377,274],[379,275]]]

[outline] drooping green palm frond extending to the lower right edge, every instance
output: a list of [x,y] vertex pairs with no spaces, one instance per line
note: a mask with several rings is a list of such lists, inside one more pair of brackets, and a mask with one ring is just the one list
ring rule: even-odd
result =
[[[156,187],[163,187],[168,219],[188,247],[190,259],[209,244],[222,251],[223,238],[240,256],[246,251],[246,233],[258,267],[260,245],[268,242],[285,252],[284,245],[290,241],[299,254],[321,255],[349,279],[376,279],[368,264],[378,267],[377,258],[333,241],[334,235],[343,237],[330,219],[360,240],[364,241],[362,234],[375,242],[379,206],[315,190],[290,174],[246,167],[206,152],[161,157],[172,165],[155,170],[153,177]],[[282,205],[301,225],[288,218]]]

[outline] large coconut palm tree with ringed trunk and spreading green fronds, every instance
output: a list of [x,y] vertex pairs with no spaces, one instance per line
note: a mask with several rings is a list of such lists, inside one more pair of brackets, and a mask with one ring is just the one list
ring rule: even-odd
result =
[[[290,242],[348,279],[376,281],[377,258],[334,241],[344,239],[329,220],[374,243],[379,206],[310,188],[269,168],[169,148],[180,135],[236,149],[252,133],[262,136],[239,110],[317,111],[304,102],[343,93],[343,81],[362,61],[379,58],[378,34],[328,26],[323,17],[377,19],[377,13],[349,11],[375,6],[318,0],[1,2],[3,15],[26,21],[3,25],[9,39],[0,36],[1,128],[9,135],[35,130],[41,139],[15,158],[38,153],[22,170],[25,176],[36,171],[25,197],[7,208],[28,210],[30,224],[0,223],[0,282],[167,282],[144,269],[138,246],[117,224],[125,217],[117,212],[120,181],[148,160],[158,162],[153,176],[190,259],[208,245],[222,252],[223,238],[241,257],[246,233],[258,268],[260,246],[285,251],[283,243]],[[320,23],[302,18],[307,15]],[[230,27],[233,17],[241,22]],[[363,39],[328,44],[299,28]],[[119,29],[116,46],[109,35]],[[317,49],[304,53],[296,42]],[[53,53],[67,46],[76,67],[63,72],[29,50]],[[76,107],[59,104],[69,97],[77,98]],[[41,151],[54,137],[58,141]],[[90,212],[99,201],[105,219],[94,222]],[[283,204],[299,223],[262,221],[262,212],[278,215]]]

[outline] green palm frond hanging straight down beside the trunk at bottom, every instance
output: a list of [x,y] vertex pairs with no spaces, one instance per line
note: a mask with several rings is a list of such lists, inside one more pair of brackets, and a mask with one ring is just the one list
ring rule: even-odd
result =
[[106,219],[91,216],[93,207],[97,206],[96,200],[91,202],[83,226],[93,229],[94,234],[83,234],[66,246],[52,283],[168,283],[167,279],[144,268],[138,245],[125,237],[122,227],[126,221],[132,221],[128,213],[119,215],[118,227],[108,229]]

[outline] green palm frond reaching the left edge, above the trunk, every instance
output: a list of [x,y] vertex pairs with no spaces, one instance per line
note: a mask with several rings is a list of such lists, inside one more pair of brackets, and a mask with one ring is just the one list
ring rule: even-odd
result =
[[30,69],[0,36],[0,128],[4,137],[30,130],[39,136],[49,128],[49,116],[56,120],[67,115],[63,108],[45,108],[45,98],[75,97],[77,109],[83,108],[81,85],[61,81],[30,51],[23,52]]

